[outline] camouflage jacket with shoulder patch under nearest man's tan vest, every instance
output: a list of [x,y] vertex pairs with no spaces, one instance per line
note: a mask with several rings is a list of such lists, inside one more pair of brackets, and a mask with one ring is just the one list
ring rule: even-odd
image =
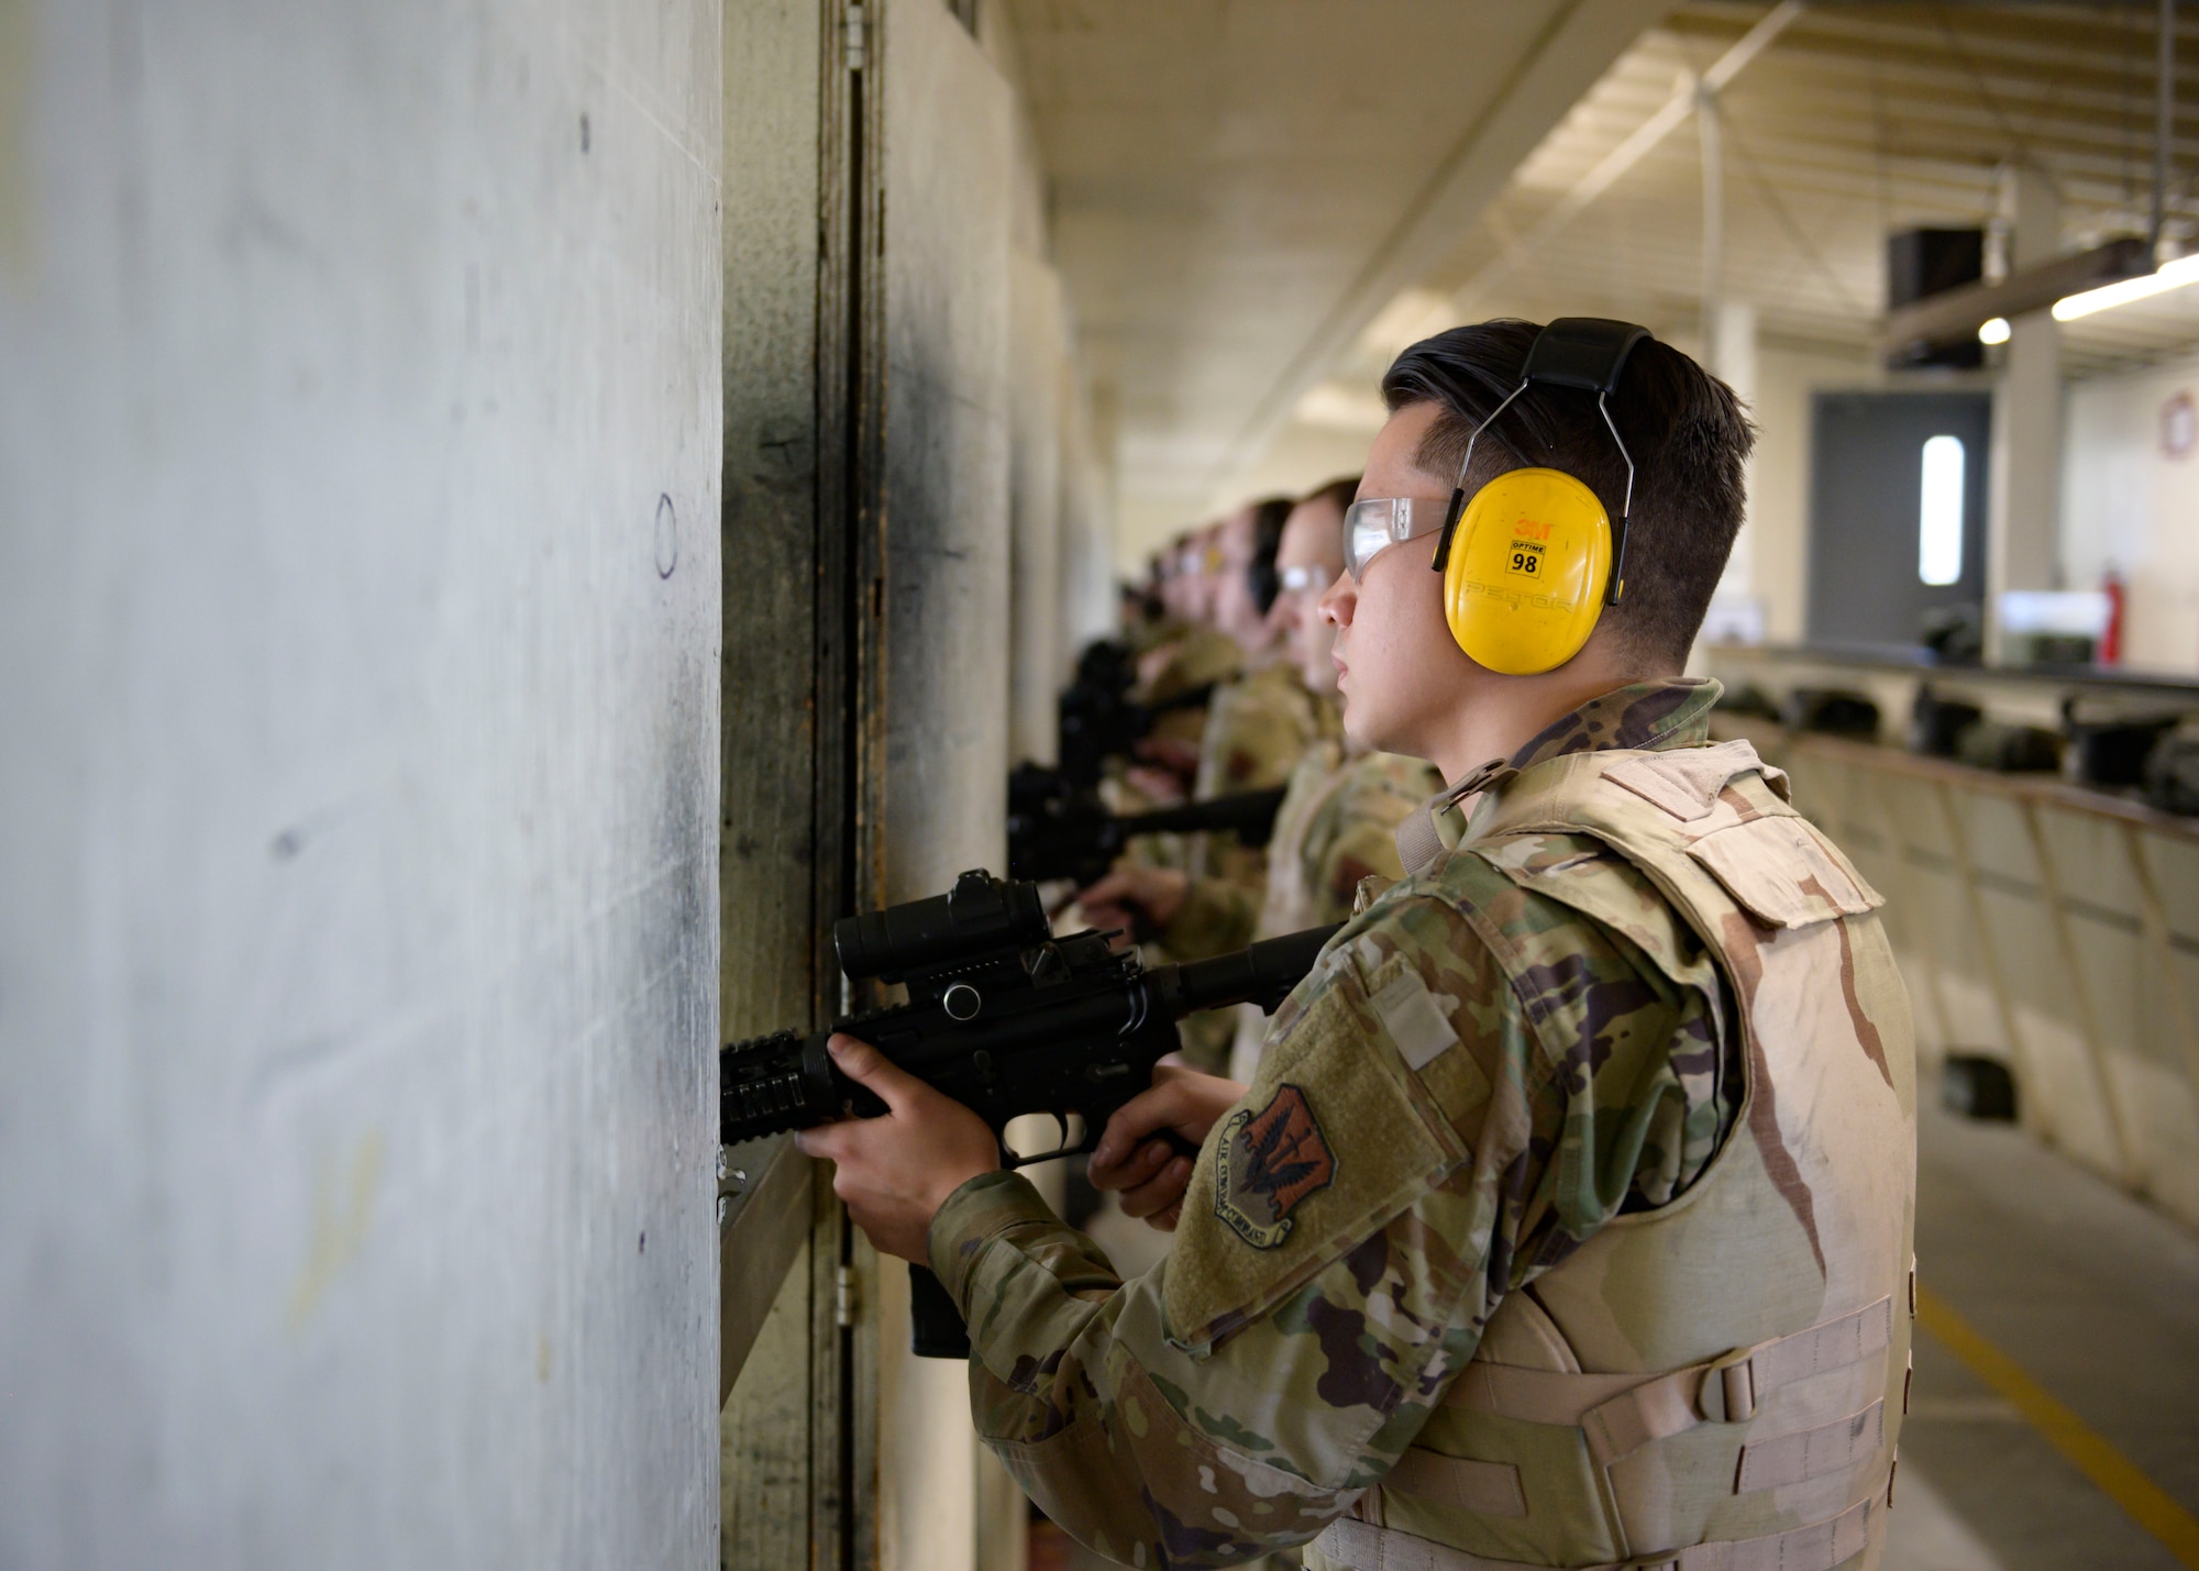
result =
[[[1607,693],[1513,763],[1702,746],[1715,695]],[[1640,869],[1572,838],[1544,849],[1665,911],[1669,946],[1691,948]],[[1392,990],[1407,970],[1418,984]],[[1275,1012],[1150,1274],[1119,1281],[1012,1173],[941,1206],[930,1259],[970,1322],[981,1437],[1128,1564],[1311,1540],[1399,1461],[1506,1294],[1720,1149],[1744,1072],[1722,977],[1693,975],[1676,984],[1471,843],[1405,878]],[[1427,1019],[1392,1019],[1401,997]]]

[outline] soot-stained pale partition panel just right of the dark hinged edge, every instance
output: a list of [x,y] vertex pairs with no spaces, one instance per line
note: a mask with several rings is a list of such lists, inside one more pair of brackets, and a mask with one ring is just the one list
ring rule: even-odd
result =
[[[1009,739],[1007,81],[939,0],[882,11],[886,92],[886,898],[1005,871]],[[968,1375],[908,1353],[880,1263],[877,1534],[888,1571],[963,1571],[1001,1520]]]

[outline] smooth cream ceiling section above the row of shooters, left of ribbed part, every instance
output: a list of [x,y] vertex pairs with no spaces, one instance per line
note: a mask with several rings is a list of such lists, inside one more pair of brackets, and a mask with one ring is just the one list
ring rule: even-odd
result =
[[1234,495],[1665,0],[1007,9],[1121,530],[1148,539]]

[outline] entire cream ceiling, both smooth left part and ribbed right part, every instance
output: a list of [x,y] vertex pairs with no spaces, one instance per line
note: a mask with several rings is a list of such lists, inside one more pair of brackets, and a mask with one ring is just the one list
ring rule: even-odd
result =
[[[1352,466],[1383,363],[1451,321],[1601,312],[1698,337],[1693,117],[1522,238],[1770,4],[1005,2],[1126,548]],[[2170,213],[2199,238],[2192,7],[2179,62]],[[1537,64],[1577,86],[1522,92]],[[1768,341],[1863,350],[1885,233],[1988,220],[2012,158],[2058,187],[2065,244],[2144,227],[2153,7],[1823,0],[1720,103],[1726,297]],[[2063,341],[2076,376],[2199,345],[2199,288]]]

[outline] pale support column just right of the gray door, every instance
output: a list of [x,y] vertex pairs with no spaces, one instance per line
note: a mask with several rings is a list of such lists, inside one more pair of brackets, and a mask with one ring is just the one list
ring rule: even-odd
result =
[[[2010,266],[2060,251],[2060,196],[2043,169],[2001,172]],[[2052,590],[2060,579],[2060,323],[2045,310],[2010,323],[1992,394],[1992,462],[1986,497],[1986,647],[2001,658],[2001,594]]]

